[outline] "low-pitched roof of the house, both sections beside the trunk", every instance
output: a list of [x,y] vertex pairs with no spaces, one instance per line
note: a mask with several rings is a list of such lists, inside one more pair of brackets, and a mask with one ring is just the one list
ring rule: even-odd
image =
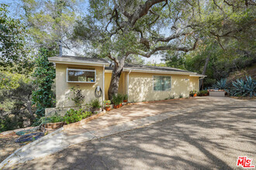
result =
[[[110,63],[106,59],[100,58],[89,58],[84,56],[53,56],[48,58],[52,63],[71,63],[77,65],[99,65],[106,66],[106,70],[111,71],[112,67],[109,66]],[[190,72],[187,70],[176,69],[167,66],[147,66],[147,65],[138,65],[138,64],[125,64],[123,71],[133,71],[133,72],[147,72],[147,73],[177,73],[185,74],[189,76],[205,76],[199,73]]]

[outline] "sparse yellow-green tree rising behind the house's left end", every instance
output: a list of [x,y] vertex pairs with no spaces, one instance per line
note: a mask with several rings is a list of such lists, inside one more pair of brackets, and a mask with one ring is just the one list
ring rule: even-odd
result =
[[71,49],[71,32],[75,19],[78,19],[76,0],[40,1],[22,0],[29,34],[33,36],[35,46],[58,49],[62,56],[63,49]]

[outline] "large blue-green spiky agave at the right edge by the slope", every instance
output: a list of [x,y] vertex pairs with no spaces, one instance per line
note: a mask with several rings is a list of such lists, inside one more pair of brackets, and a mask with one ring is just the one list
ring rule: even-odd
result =
[[246,80],[236,80],[232,82],[234,88],[231,90],[233,96],[256,96],[256,81],[251,76],[246,76]]

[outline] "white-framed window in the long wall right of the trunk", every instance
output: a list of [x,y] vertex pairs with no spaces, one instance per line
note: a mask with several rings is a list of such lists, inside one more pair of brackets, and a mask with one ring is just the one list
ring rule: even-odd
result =
[[171,76],[153,76],[154,91],[171,90]]

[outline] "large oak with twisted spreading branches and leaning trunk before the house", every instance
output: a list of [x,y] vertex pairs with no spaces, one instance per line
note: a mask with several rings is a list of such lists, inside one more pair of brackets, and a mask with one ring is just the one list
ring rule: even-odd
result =
[[118,91],[119,77],[130,55],[150,57],[164,50],[189,52],[195,49],[197,37],[184,22],[189,15],[178,10],[171,1],[98,0],[89,3],[89,14],[78,21],[74,38],[91,42],[99,56],[115,63],[108,91],[110,99]]

